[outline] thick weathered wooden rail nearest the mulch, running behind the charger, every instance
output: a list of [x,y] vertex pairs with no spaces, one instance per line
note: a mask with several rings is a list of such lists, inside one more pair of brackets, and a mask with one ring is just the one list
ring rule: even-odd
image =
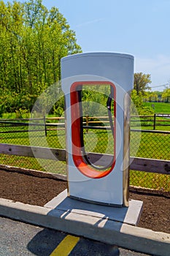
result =
[[[0,154],[9,154],[22,157],[35,157],[41,159],[53,159],[66,161],[66,150],[59,148],[43,148],[38,146],[20,146],[13,144],[0,144]],[[98,165],[105,165],[110,162],[112,155],[88,153],[90,162],[97,162]],[[148,159],[131,157],[131,170],[140,170],[148,173],[170,174],[170,161],[160,159]]]

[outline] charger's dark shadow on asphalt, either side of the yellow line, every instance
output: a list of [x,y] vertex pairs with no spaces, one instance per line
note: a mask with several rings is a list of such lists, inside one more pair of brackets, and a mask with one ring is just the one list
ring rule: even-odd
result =
[[[31,239],[27,245],[27,249],[37,256],[49,256],[65,237],[66,233],[44,229]],[[69,256],[74,255],[119,256],[120,250],[117,248],[117,246],[111,246],[108,244],[100,243],[98,241],[91,241],[85,238],[80,238],[80,241],[69,254]]]

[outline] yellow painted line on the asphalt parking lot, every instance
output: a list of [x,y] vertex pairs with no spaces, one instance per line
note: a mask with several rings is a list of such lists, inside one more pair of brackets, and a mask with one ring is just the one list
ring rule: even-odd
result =
[[72,252],[72,249],[78,241],[80,240],[79,237],[76,236],[66,236],[63,238],[63,241],[61,241],[60,244],[53,250],[53,252],[50,254],[50,256],[67,256],[70,252]]

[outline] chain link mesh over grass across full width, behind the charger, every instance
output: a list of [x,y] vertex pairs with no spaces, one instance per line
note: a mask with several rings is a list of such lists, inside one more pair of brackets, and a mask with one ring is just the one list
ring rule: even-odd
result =
[[[112,132],[104,127],[83,129],[86,152],[113,154]],[[38,146],[46,148],[66,148],[64,119],[37,118],[31,120],[0,121],[0,143]],[[170,159],[170,132],[131,129],[131,157],[150,159]],[[36,157],[36,156],[35,156]],[[36,159],[1,154],[1,165],[12,165],[50,173],[66,174],[66,162]],[[143,171],[130,171],[130,185],[170,191],[170,176]]]

